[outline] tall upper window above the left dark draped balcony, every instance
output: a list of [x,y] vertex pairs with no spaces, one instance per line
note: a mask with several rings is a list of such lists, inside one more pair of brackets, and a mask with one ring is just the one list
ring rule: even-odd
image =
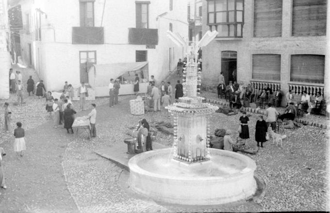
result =
[[79,3],[80,3],[80,26],[94,27],[94,1],[81,0]]

